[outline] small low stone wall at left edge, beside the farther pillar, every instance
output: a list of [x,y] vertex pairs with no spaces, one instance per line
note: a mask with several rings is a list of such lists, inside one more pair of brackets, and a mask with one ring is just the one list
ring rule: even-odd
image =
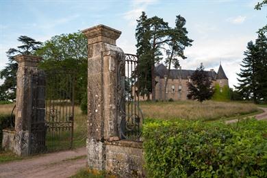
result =
[[15,131],[3,129],[2,148],[5,151],[14,151]]

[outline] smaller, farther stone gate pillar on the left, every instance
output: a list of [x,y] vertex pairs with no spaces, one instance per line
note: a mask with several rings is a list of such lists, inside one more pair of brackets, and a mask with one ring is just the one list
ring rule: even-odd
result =
[[17,155],[29,155],[30,128],[32,116],[33,75],[38,75],[37,64],[41,58],[34,55],[17,55],[18,71],[16,73],[16,118],[14,152]]

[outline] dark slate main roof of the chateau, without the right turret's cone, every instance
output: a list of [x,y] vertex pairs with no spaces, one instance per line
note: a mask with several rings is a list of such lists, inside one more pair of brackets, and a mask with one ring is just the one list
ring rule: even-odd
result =
[[[159,76],[160,78],[164,78],[164,75],[166,75],[168,72],[166,66],[164,64],[159,64],[155,66],[155,75]],[[216,72],[214,71],[206,71],[207,75],[211,77],[213,80],[216,80]],[[194,70],[185,70],[185,69],[170,69],[170,79],[188,79],[192,74],[194,73]]]

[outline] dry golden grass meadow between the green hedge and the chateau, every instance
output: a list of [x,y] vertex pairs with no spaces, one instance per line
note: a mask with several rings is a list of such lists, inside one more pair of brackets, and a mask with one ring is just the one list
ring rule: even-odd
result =
[[141,102],[140,108],[144,118],[188,120],[218,120],[257,112],[257,105],[253,103],[204,101],[176,101],[176,102]]

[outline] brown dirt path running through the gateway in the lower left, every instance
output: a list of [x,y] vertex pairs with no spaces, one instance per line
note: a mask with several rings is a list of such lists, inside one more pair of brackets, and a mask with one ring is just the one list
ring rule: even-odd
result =
[[0,164],[0,177],[69,177],[86,166],[85,155],[81,148]]

